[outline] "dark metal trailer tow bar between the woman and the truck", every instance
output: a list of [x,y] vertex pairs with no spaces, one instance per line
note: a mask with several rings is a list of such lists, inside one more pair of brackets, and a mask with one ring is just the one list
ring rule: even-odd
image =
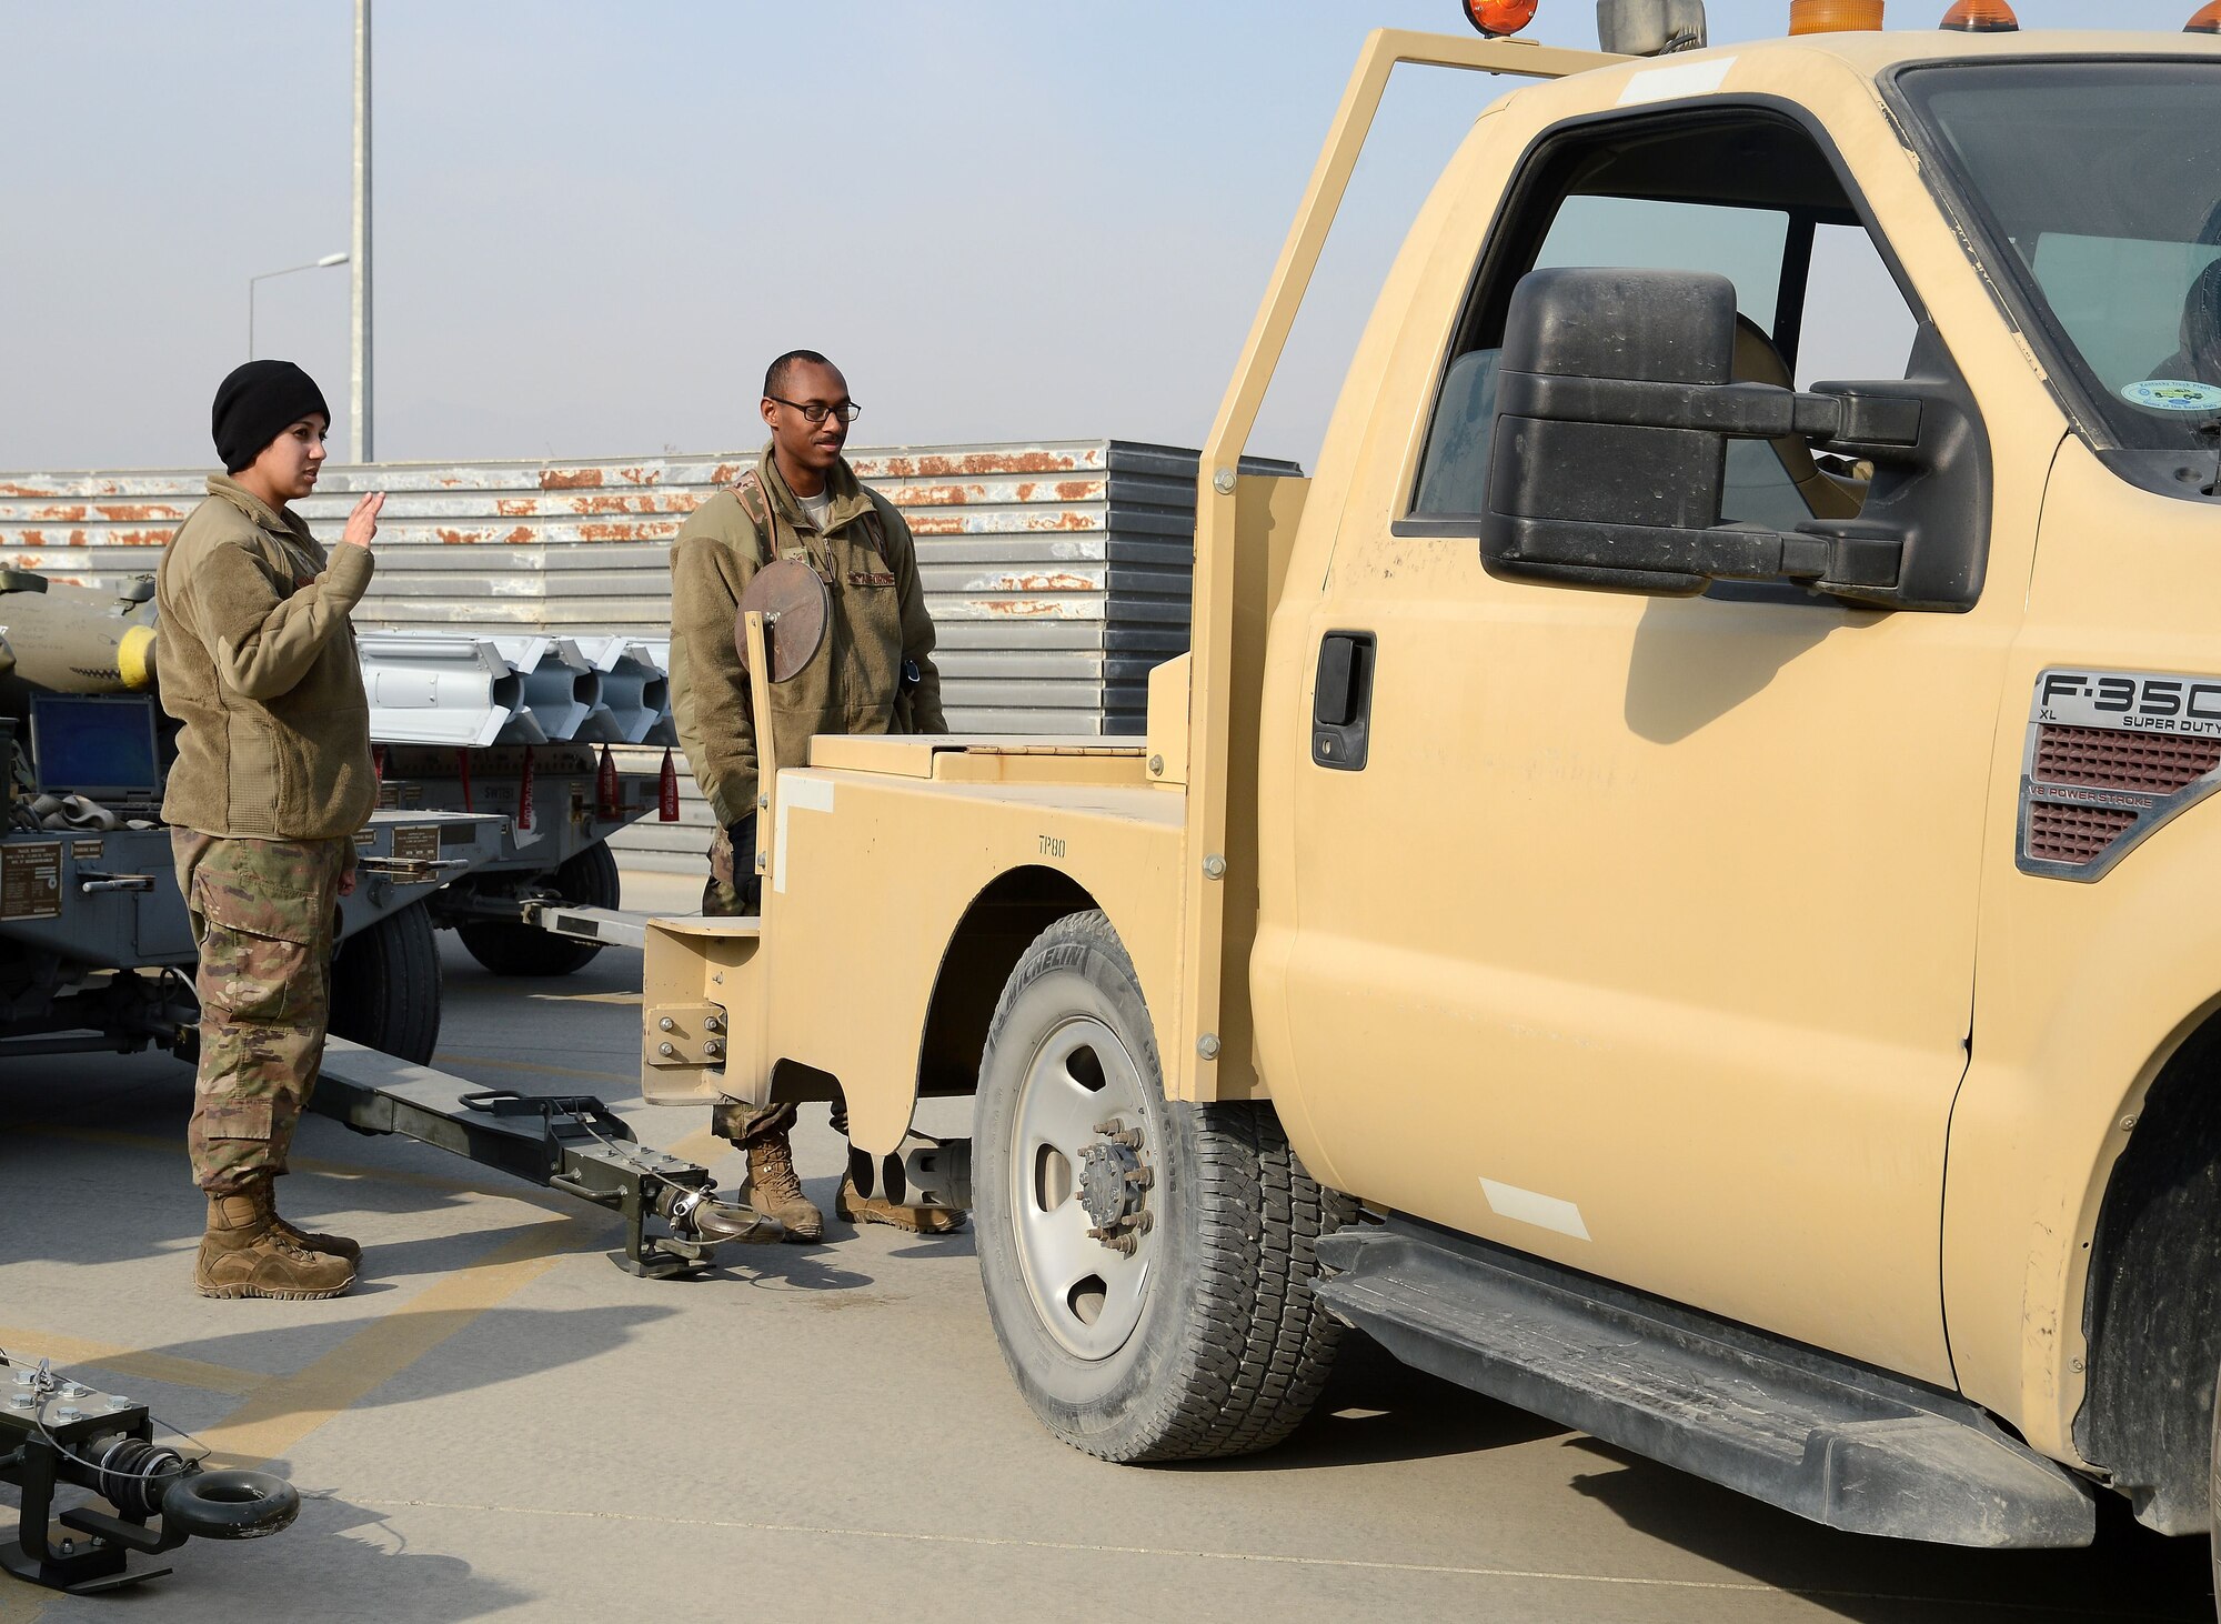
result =
[[617,1213],[624,1251],[611,1260],[649,1280],[706,1269],[726,1242],[782,1233],[775,1220],[720,1202],[708,1169],[640,1144],[624,1117],[586,1093],[480,1089],[333,1037],[309,1109],[358,1133],[400,1133]]

